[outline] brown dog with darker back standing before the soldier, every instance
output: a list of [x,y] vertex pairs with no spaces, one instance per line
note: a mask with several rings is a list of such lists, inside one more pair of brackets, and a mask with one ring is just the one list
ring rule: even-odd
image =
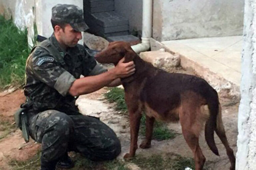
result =
[[[146,113],[146,139],[141,148],[151,145],[155,119],[180,121],[184,138],[194,153],[196,170],[202,170],[205,157],[198,143],[200,131],[205,124],[205,139],[213,153],[219,155],[214,141],[214,131],[224,144],[231,167],[235,170],[235,156],[229,147],[225,129],[222,124],[221,107],[217,92],[202,78],[178,73],[168,73],[143,61],[126,42],[112,42],[108,48],[95,58],[100,63],[117,64],[125,57],[124,62],[134,61],[136,72],[123,78],[125,102],[130,117],[131,145],[130,153],[124,158],[135,155],[138,148],[137,139],[141,112]],[[203,112],[208,106],[208,113]]]

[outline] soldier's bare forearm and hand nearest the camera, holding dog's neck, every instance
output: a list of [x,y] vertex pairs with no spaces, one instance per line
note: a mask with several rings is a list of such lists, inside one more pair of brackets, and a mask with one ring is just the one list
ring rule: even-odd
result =
[[117,78],[128,77],[135,72],[135,65],[133,61],[123,63],[124,58],[113,69],[108,72],[76,79],[69,88],[69,94],[72,96],[79,96],[83,94],[92,93],[109,85]]

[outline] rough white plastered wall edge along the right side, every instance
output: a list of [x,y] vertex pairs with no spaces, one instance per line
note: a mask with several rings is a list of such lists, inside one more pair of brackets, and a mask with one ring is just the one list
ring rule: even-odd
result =
[[256,1],[245,0],[236,170],[256,169]]

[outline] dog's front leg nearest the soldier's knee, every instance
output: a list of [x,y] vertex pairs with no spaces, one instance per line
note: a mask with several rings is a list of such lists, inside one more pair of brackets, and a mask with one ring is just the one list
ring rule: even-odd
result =
[[138,133],[140,128],[140,119],[141,119],[141,112],[130,112],[130,133],[131,133],[131,144],[130,144],[130,153],[126,153],[124,158],[131,158],[134,157],[136,149],[138,148]]

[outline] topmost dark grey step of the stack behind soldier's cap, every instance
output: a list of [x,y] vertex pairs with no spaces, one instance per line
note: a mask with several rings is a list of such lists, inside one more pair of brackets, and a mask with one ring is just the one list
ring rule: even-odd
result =
[[84,11],[89,13],[113,11],[114,9],[114,0],[84,0]]

